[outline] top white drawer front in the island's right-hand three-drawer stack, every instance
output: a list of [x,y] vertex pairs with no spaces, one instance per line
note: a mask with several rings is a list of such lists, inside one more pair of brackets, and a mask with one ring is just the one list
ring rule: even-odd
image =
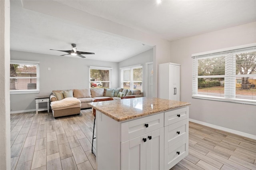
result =
[[168,111],[164,113],[164,126],[171,125],[178,121],[188,118],[188,107]]

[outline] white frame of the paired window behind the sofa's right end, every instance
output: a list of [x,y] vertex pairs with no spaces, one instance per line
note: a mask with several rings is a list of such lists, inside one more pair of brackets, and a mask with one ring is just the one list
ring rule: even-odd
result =
[[138,82],[138,81],[134,81],[133,80],[133,70],[134,69],[138,69],[141,68],[142,69],[142,81],[141,81],[141,92],[143,92],[143,65],[142,64],[138,64],[138,65],[132,65],[132,66],[128,66],[128,67],[121,67],[120,68],[120,87],[124,88],[124,82],[123,81],[124,77],[123,77],[123,71],[125,70],[130,70],[130,83],[129,83],[129,90],[134,90],[134,82]]

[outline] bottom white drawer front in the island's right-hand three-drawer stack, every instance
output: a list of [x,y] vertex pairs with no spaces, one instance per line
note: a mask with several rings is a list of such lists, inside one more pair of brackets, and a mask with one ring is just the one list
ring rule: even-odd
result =
[[164,150],[164,169],[169,170],[180,160],[188,155],[188,142],[186,139],[174,144],[172,147]]

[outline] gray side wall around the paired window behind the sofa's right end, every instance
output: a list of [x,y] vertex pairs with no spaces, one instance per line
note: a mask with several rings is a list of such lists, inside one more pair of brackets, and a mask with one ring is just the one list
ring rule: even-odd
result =
[[[134,55],[126,60],[123,60],[118,63],[119,68],[128,67],[132,65],[142,64],[142,92],[144,93],[144,97],[146,96],[146,63],[153,61],[153,49],[140,53],[138,55]],[[118,76],[118,86],[121,85],[120,79],[120,70]]]

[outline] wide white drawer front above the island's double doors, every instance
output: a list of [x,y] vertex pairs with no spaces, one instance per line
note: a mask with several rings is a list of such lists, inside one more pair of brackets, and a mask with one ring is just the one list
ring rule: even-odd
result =
[[164,113],[121,123],[121,142],[164,127]]

